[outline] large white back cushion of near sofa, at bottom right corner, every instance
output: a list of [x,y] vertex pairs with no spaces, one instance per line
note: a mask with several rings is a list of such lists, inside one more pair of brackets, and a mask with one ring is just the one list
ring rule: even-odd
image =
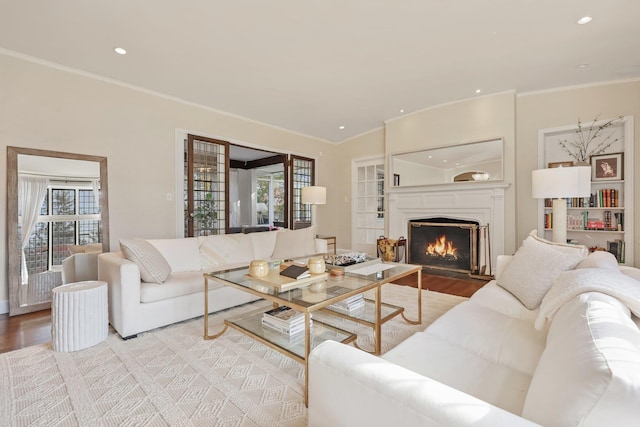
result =
[[640,419],[640,331],[613,297],[585,293],[551,324],[523,416],[545,426],[627,426]]

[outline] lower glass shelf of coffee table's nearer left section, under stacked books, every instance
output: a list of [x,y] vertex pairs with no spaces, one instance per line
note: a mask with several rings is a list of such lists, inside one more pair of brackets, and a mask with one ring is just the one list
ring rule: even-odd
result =
[[[262,315],[265,311],[267,311],[267,309],[260,308],[249,313],[225,319],[224,323],[226,326],[236,329],[260,341],[267,347],[306,365],[307,355],[305,354],[304,332],[292,340],[287,334],[262,326]],[[318,320],[313,320],[309,338],[311,340],[310,347],[314,348],[328,340],[349,344],[356,340],[357,335]]]

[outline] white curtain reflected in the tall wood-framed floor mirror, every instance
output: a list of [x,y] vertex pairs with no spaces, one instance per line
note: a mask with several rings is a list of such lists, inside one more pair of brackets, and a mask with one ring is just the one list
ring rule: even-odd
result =
[[47,195],[49,180],[40,177],[18,177],[18,212],[22,217],[22,283],[29,283],[29,273],[27,271],[27,260],[24,248],[29,243],[31,233],[38,222],[38,214],[42,207],[42,202]]

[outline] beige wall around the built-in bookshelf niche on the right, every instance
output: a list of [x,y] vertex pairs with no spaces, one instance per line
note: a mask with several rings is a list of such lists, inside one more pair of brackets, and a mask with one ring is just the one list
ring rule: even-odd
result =
[[[573,125],[580,118],[589,123],[601,119],[634,116],[634,170],[638,170],[640,150],[640,81],[521,95],[517,98],[516,193],[517,236],[521,242],[537,227],[537,202],[531,198],[531,170],[538,168],[538,129]],[[634,175],[634,224],[638,224],[640,174]],[[640,265],[640,230],[634,229],[634,265]]]

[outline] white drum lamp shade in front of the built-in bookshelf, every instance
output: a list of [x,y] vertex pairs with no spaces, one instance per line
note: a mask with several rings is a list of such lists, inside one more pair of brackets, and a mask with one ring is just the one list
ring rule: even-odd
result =
[[590,166],[538,169],[531,172],[531,196],[534,199],[590,195]]

